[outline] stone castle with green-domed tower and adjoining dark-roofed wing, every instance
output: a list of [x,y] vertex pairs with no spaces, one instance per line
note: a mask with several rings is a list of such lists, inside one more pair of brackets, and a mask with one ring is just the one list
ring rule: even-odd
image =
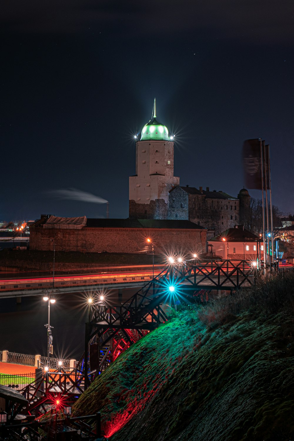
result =
[[174,141],[167,127],[154,116],[136,142],[136,175],[129,178],[130,219],[192,221],[213,230],[213,235],[244,224],[250,196],[242,189],[238,197],[206,187],[180,187],[174,176]]

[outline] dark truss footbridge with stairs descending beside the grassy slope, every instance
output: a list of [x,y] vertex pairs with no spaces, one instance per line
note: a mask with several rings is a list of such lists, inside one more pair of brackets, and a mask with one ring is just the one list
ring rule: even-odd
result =
[[[131,344],[167,321],[167,309],[177,302],[201,301],[209,291],[234,291],[255,283],[257,269],[247,261],[170,265],[121,305],[103,300],[90,304],[85,354],[81,369],[100,374]],[[90,376],[85,375],[85,388]]]

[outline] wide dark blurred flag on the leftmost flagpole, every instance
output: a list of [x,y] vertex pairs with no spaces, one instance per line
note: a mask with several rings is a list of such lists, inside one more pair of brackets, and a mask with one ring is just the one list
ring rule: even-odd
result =
[[258,138],[244,141],[243,166],[246,188],[261,190],[261,145]]

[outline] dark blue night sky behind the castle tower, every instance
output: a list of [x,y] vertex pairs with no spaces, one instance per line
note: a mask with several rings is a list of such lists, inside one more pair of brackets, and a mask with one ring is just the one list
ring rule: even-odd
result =
[[106,216],[70,188],[128,217],[154,97],[181,185],[237,196],[261,137],[273,204],[294,213],[293,0],[4,0],[0,41],[0,220]]

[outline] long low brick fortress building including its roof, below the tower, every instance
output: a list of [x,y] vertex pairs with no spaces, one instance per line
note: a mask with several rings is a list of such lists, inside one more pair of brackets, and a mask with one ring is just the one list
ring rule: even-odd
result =
[[108,253],[189,254],[206,250],[206,229],[189,221],[87,219],[43,215],[30,227],[31,250]]

